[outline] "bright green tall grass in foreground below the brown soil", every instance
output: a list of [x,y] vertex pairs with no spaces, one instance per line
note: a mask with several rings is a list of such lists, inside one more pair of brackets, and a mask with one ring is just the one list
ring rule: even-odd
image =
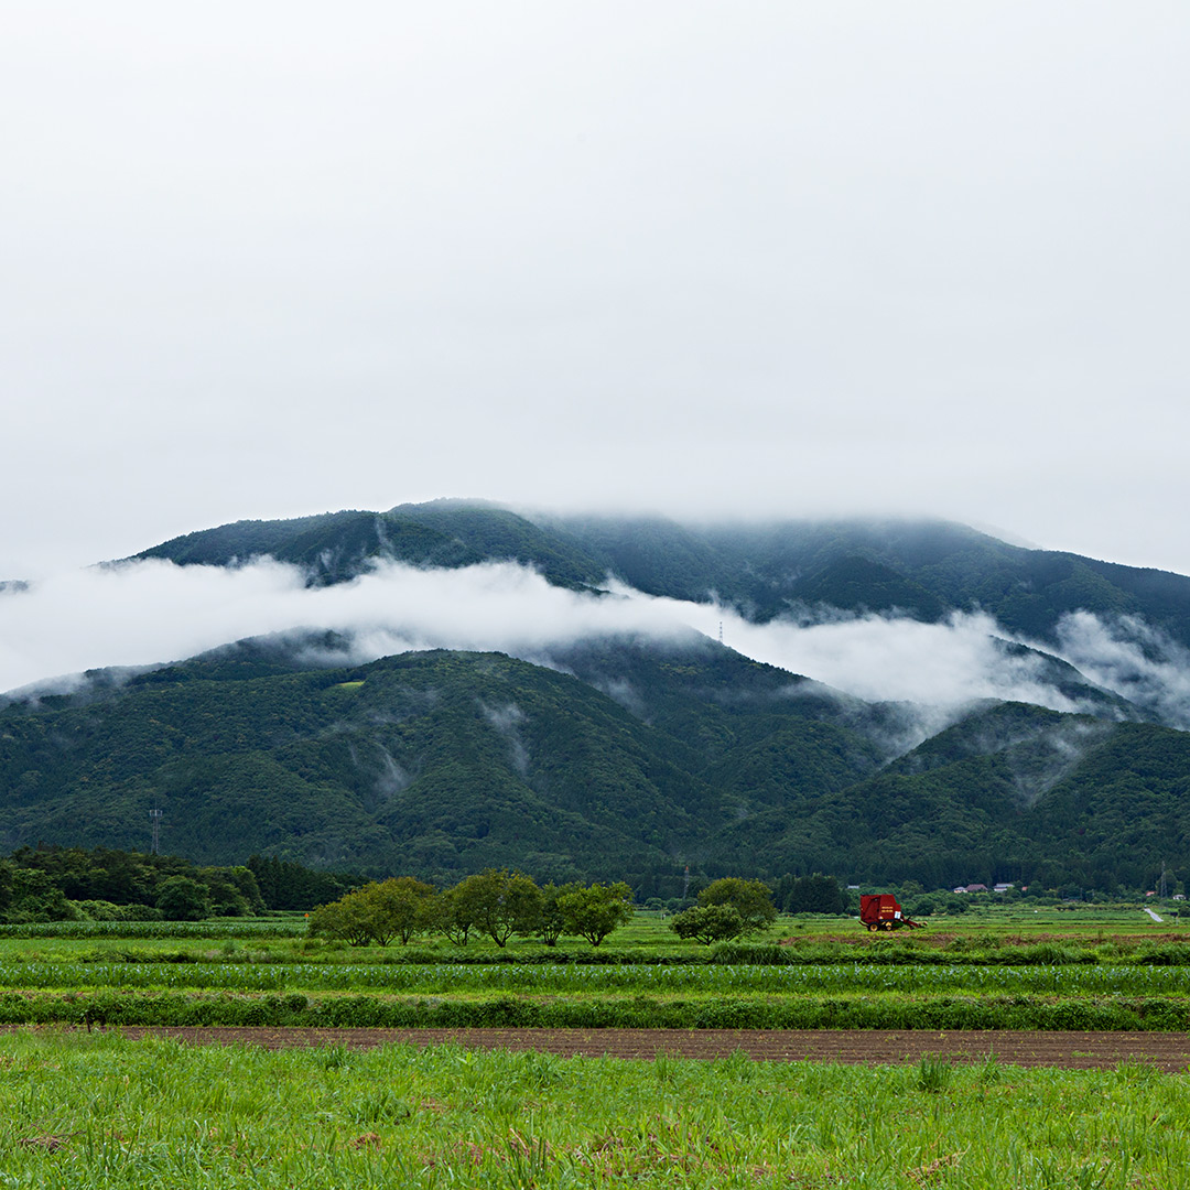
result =
[[1190,1079],[0,1039],[0,1186],[1190,1186]]

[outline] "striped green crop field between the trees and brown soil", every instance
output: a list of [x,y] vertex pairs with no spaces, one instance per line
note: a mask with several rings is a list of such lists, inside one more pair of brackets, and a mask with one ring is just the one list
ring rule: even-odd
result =
[[0,1022],[1190,1028],[1184,927],[1136,908],[1050,908],[1026,925],[1034,919],[1025,929],[1019,910],[972,910],[889,935],[788,919],[766,940],[718,947],[679,941],[646,914],[600,947],[351,947],[305,937],[301,916],[11,926]]

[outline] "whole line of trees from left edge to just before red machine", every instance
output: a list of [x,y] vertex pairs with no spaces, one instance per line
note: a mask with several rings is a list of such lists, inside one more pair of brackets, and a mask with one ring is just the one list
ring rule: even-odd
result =
[[[519,935],[553,946],[568,935],[599,946],[631,919],[633,902],[626,881],[538,885],[521,872],[495,869],[439,891],[411,876],[365,882],[358,873],[315,871],[262,856],[219,868],[177,856],[43,844],[0,859],[0,922],[13,923],[198,921],[313,910],[312,932],[353,945],[439,934],[457,945],[474,935],[503,946]],[[671,907],[682,909],[682,903]],[[696,903],[678,912],[671,926],[682,938],[721,941],[765,928],[778,908],[839,913],[844,902],[833,877],[787,876],[771,889],[760,881],[725,877],[699,889]]]

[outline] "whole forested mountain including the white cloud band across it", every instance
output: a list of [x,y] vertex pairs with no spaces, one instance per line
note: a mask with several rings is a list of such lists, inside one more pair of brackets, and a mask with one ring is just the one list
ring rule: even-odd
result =
[[163,806],[205,862],[638,891],[1190,864],[1190,580],[958,525],[436,501],[190,533],[0,615],[10,846],[143,846]]

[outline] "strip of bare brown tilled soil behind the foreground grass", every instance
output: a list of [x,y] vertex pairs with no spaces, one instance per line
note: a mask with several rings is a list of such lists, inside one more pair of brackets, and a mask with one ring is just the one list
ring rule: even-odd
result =
[[[7,1029],[5,1029],[7,1032]],[[129,1038],[167,1036],[195,1045],[416,1046],[455,1042],[481,1050],[538,1050],[560,1057],[651,1059],[725,1058],[741,1051],[764,1061],[915,1063],[926,1056],[951,1061],[1106,1069],[1151,1063],[1166,1072],[1190,1069],[1190,1033],[881,1032],[875,1029],[313,1029],[149,1028],[125,1026]]]

